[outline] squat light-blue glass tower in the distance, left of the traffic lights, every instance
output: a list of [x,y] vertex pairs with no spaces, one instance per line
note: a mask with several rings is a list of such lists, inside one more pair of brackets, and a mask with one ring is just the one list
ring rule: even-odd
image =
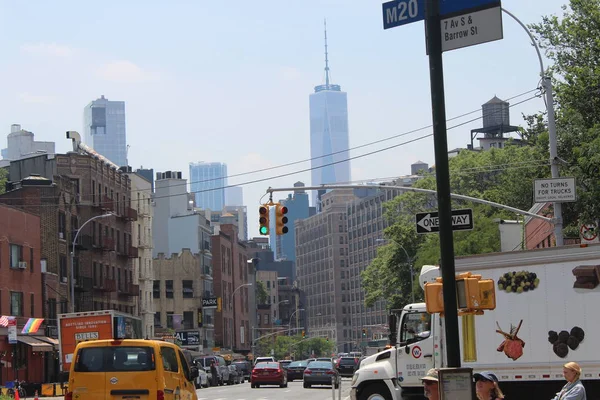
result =
[[227,164],[203,161],[190,163],[190,189],[196,198],[196,207],[213,211],[223,210],[225,186]]

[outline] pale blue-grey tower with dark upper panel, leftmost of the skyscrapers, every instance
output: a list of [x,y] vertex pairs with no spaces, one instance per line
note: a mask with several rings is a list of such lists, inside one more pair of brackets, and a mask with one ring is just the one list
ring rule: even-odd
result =
[[83,110],[85,144],[120,167],[127,165],[125,102],[109,101],[104,96]]

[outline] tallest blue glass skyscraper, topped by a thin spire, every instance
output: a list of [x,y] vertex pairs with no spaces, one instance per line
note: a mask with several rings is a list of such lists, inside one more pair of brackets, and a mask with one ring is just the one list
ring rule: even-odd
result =
[[[329,82],[327,27],[325,27],[325,84],[315,86],[309,98],[310,157],[312,186],[350,181],[348,151],[348,100],[340,85]],[[335,153],[335,154],[334,154]],[[336,164],[334,164],[336,163]],[[313,191],[312,202],[320,210],[321,193]]]

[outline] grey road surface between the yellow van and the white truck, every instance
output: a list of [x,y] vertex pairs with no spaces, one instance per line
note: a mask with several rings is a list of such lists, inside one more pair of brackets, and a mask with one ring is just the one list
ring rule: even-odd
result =
[[[342,379],[342,393],[339,397],[335,391],[335,400],[350,399],[350,379]],[[233,386],[215,386],[198,389],[198,400],[332,400],[331,386],[314,386],[310,389],[302,387],[302,381],[289,382],[287,388],[278,386],[264,386],[257,389],[250,388],[250,382]],[[39,400],[63,400],[63,397],[39,397]],[[27,400],[32,400],[28,397]]]

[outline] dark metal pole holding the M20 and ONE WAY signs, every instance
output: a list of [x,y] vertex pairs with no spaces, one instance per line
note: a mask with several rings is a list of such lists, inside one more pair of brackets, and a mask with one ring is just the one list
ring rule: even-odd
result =
[[448,139],[446,137],[446,104],[444,100],[444,70],[442,62],[442,31],[440,0],[430,0],[426,7],[426,36],[429,49],[429,78],[431,81],[431,110],[433,144],[440,224],[440,252],[446,322],[446,355],[448,367],[460,367],[458,311],[452,237],[452,205],[450,202],[450,173]]

